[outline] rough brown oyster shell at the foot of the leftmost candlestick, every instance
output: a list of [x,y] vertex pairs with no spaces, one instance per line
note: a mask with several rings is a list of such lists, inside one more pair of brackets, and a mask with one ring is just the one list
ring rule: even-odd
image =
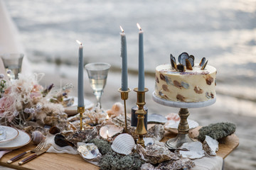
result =
[[76,144],[77,142],[88,142],[97,136],[97,129],[87,128],[85,130],[68,130],[61,132],[66,140]]

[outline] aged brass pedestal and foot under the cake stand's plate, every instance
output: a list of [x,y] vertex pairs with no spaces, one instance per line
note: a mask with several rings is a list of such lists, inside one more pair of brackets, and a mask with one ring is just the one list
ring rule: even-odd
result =
[[178,135],[175,138],[168,140],[165,144],[169,149],[176,149],[181,147],[181,145],[186,142],[194,142],[194,140],[188,136],[188,108],[181,108],[178,112],[178,115],[181,118],[181,121],[178,124]]

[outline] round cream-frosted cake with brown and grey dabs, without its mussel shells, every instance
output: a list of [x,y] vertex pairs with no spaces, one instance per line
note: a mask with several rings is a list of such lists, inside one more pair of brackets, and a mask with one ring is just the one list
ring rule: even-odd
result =
[[155,94],[167,101],[202,102],[215,98],[216,69],[206,65],[201,69],[194,64],[193,70],[178,72],[171,64],[156,67]]

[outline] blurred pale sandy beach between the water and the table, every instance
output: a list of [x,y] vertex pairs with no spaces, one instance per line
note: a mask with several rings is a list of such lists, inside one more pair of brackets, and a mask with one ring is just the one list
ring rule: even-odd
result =
[[[53,83],[55,84],[55,88],[58,89],[60,84],[63,86],[72,83],[75,88],[70,95],[77,96],[77,71],[75,67],[60,66],[57,68],[51,65],[46,69],[46,65],[44,64],[33,64],[33,69],[35,72],[45,73],[45,77],[40,81],[41,85],[47,86]],[[86,72],[84,73],[84,77],[85,98],[96,103]],[[115,102],[122,102],[120,94],[117,91],[121,86],[120,80],[121,74],[110,70],[107,77],[107,85],[102,96],[103,108],[109,109]],[[134,89],[135,87],[137,87],[137,75],[129,74],[129,88]],[[153,101],[151,94],[154,91],[154,77],[146,77],[145,87],[149,89],[149,92],[146,93],[146,106],[149,108],[149,114],[159,113],[166,115],[168,113],[178,113],[178,108],[161,106]],[[127,100],[128,113],[130,113],[130,108],[135,105],[136,100],[136,93],[131,91]],[[240,145],[225,158],[225,169],[227,170],[256,169],[256,117],[251,116],[256,115],[256,111],[252,110],[254,107],[254,103],[250,103],[249,101],[241,101],[237,98],[220,95],[217,89],[217,101],[212,106],[189,109],[191,113],[189,118],[196,120],[199,125],[204,126],[210,123],[230,122],[235,123],[237,126],[235,134],[240,139]]]

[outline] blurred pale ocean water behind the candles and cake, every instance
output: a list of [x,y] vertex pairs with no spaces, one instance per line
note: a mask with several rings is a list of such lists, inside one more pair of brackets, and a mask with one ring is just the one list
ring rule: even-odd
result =
[[256,1],[31,1],[4,0],[32,62],[86,62],[120,67],[120,29],[128,67],[137,69],[138,28],[144,30],[145,69],[188,52],[218,69],[218,93],[256,101]]

